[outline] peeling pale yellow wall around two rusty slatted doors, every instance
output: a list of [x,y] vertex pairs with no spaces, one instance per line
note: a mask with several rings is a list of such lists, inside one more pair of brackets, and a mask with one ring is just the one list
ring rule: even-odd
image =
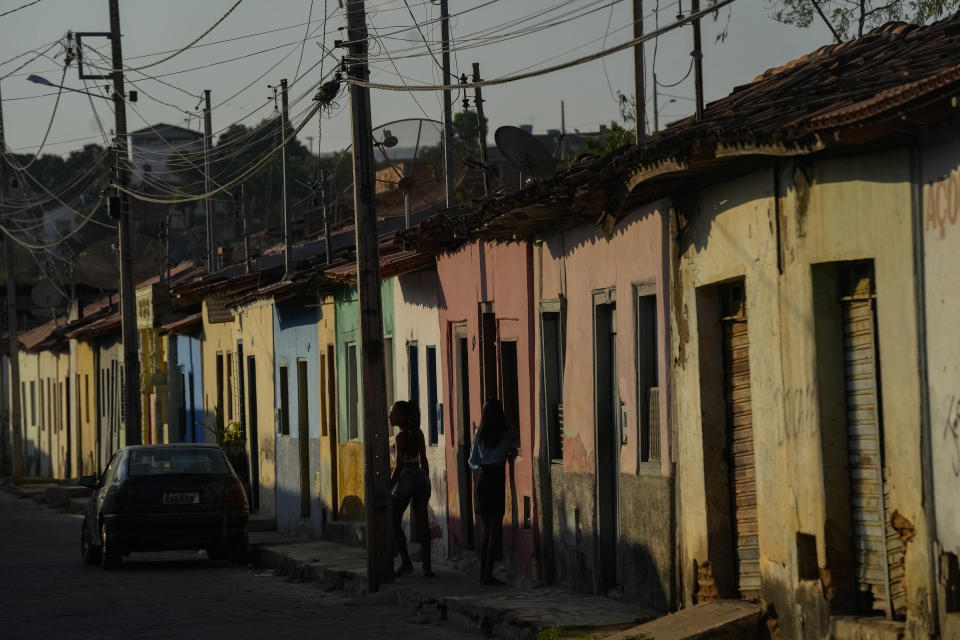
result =
[[[705,463],[721,452],[704,444],[708,416],[701,399],[716,390],[701,388],[698,304],[705,298],[699,287],[743,278],[746,290],[761,593],[775,606],[782,637],[827,637],[828,576],[843,569],[828,562],[837,557],[829,541],[833,529],[851,526],[829,517],[841,499],[838,483],[845,471],[825,462],[825,447],[846,427],[830,421],[838,403],[826,402],[818,386],[824,371],[818,369],[823,353],[816,327],[824,318],[816,315],[816,301],[824,292],[814,286],[817,265],[873,260],[890,512],[899,511],[923,539],[910,195],[908,155],[890,152],[808,165],[785,162],[776,176],[772,168],[758,171],[704,188],[691,202],[675,274],[681,313],[672,322],[688,601],[697,588],[694,567],[706,562],[713,565],[720,595],[736,595],[730,580],[717,573],[731,549],[718,546],[722,536],[711,532],[710,523],[722,514],[712,512],[704,475]],[[839,438],[845,446],[845,436]],[[798,534],[815,539],[819,573],[826,579],[819,596],[805,586],[808,576],[800,575]],[[920,637],[925,624],[931,588],[926,553],[923,545],[908,546],[907,637]]]

